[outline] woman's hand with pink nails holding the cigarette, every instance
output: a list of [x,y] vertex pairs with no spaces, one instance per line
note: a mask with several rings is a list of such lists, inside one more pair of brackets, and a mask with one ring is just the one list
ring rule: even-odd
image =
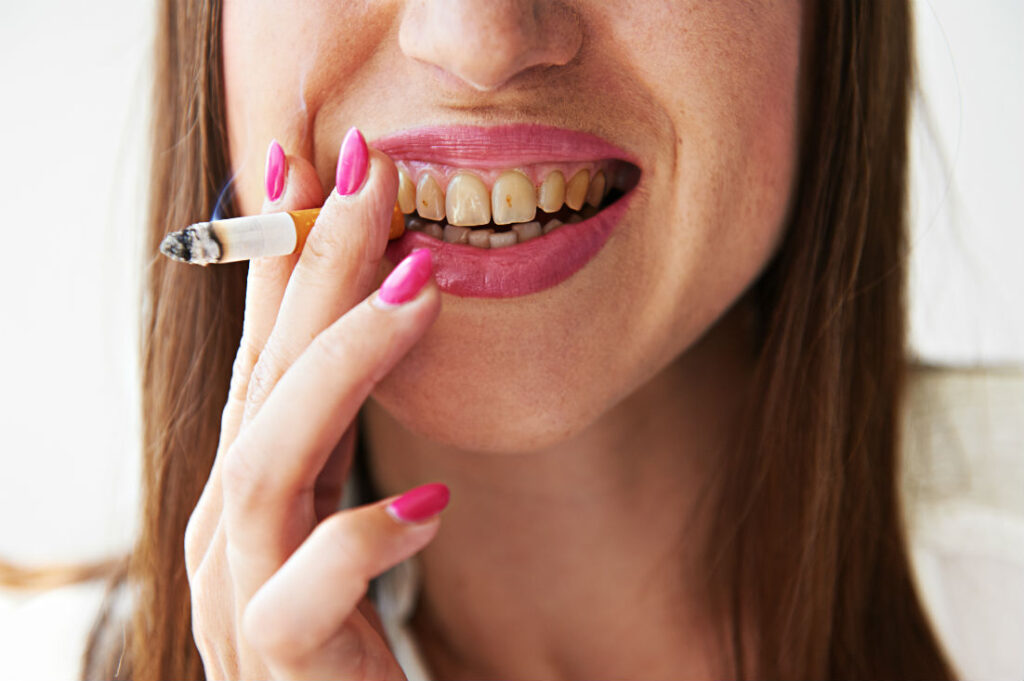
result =
[[[208,679],[404,678],[367,586],[433,539],[447,491],[426,485],[394,505],[335,509],[353,418],[436,318],[440,295],[426,272],[408,302],[365,299],[398,176],[350,133],[342,157],[355,171],[359,154],[366,181],[355,177],[350,196],[331,193],[302,253],[250,263],[217,456],[185,531],[193,632]],[[266,212],[323,199],[305,160],[289,157],[287,167],[284,193]]]

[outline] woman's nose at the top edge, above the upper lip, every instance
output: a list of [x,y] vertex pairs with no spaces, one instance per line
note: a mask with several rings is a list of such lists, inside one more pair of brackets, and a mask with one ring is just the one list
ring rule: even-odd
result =
[[559,0],[411,0],[398,44],[485,92],[534,67],[568,63],[583,28]]

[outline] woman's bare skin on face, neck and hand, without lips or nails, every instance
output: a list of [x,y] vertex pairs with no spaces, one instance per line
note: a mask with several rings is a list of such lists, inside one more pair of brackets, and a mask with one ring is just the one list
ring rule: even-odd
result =
[[[788,209],[801,14],[796,0],[225,2],[240,208],[330,197],[301,256],[250,267],[186,536],[208,676],[401,678],[362,595],[418,552],[413,628],[435,677],[728,674],[699,502],[750,379],[742,295]],[[331,193],[345,131],[372,144],[508,122],[640,160],[603,250],[531,296],[428,284],[395,309],[359,303],[392,266],[396,176],[375,154],[355,195]],[[289,155],[273,204],[271,138]],[[377,487],[446,483],[443,521],[396,522],[386,501],[333,513],[360,405]]]

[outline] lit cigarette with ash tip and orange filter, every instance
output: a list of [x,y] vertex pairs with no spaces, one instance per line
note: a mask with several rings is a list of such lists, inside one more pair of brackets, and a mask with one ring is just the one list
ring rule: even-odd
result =
[[[164,237],[160,252],[193,265],[238,262],[298,253],[316,222],[319,208],[197,222]],[[406,216],[395,205],[388,239],[406,230]]]

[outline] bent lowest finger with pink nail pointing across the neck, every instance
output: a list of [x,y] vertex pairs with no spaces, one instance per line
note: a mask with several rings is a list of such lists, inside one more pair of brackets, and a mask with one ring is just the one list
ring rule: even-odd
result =
[[[327,518],[250,601],[246,640],[288,678],[390,676],[387,667],[366,668],[387,659],[375,654],[387,646],[357,606],[370,580],[434,538],[447,500],[443,484],[426,484]],[[410,508],[415,515],[401,519]]]

